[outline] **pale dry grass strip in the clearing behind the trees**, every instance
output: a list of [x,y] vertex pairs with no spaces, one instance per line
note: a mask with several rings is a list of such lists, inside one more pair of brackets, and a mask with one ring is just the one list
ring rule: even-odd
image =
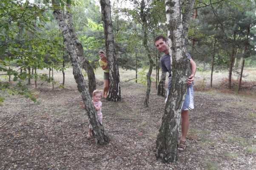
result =
[[[138,70],[138,72],[142,71],[142,69]],[[239,71],[239,70],[236,70]],[[147,73],[147,70],[145,70]],[[103,85],[103,70],[98,67],[96,70],[94,70],[95,77],[97,79],[97,84]],[[37,74],[49,74],[49,71],[47,69],[44,70],[37,70]],[[85,81],[88,81],[85,70],[82,69],[82,74],[85,77]],[[228,71],[218,71],[213,72],[213,87],[210,88],[210,71],[197,71],[196,77],[194,81],[194,90],[200,91],[200,92],[207,92],[209,94],[216,94],[216,93],[231,93],[236,94],[239,84],[239,75],[237,75],[234,71],[232,75],[232,88],[228,89]],[[245,77],[242,78],[242,84],[239,94],[240,95],[256,95],[256,68],[245,68],[243,70],[243,74]],[[120,81],[130,81],[135,82],[135,76],[136,72],[135,70],[124,70],[122,68],[119,68],[119,75],[120,75]],[[161,75],[161,72],[159,73]],[[56,84],[54,87],[60,86],[63,82],[63,74],[61,71],[54,70],[54,81]],[[145,75],[139,75],[138,79],[142,79],[142,81],[145,81],[145,78],[142,78],[142,76]],[[156,70],[153,70],[151,77],[155,79],[156,76]],[[168,74],[166,76],[166,84],[168,80]],[[7,76],[0,76],[0,81],[8,81]],[[39,83],[40,81],[38,81]],[[99,83],[100,82],[100,83]],[[33,83],[33,81],[32,81]],[[47,82],[40,82],[43,83],[48,88],[52,87],[52,83]],[[65,70],[65,86],[75,88],[76,82],[74,80],[74,75],[72,73],[72,67],[66,67]],[[151,86],[155,86],[155,82],[152,82]]]

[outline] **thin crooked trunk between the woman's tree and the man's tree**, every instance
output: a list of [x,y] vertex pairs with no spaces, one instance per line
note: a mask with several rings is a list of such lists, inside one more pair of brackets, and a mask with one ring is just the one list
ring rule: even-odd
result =
[[148,36],[147,36],[148,24],[147,24],[147,18],[146,18],[147,14],[145,13],[144,9],[145,9],[145,1],[142,0],[141,1],[140,17],[142,20],[143,45],[145,47],[145,50],[146,50],[147,56],[148,56],[148,60],[149,60],[149,69],[148,69],[148,73],[147,73],[147,91],[146,91],[146,98],[144,101],[144,106],[148,107],[149,94],[150,94],[150,90],[151,90],[151,74],[152,74],[154,62],[152,60],[151,53],[148,48]]

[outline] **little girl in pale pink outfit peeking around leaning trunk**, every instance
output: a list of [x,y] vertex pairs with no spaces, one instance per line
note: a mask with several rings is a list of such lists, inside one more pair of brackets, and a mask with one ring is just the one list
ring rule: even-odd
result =
[[[97,116],[98,116],[98,119],[100,120],[100,123],[102,124],[102,112],[101,112],[101,91],[100,90],[94,90],[92,92],[92,103],[94,104],[94,107],[97,111]],[[91,124],[89,125],[89,132],[88,132],[88,135],[86,135],[87,138],[91,138]]]

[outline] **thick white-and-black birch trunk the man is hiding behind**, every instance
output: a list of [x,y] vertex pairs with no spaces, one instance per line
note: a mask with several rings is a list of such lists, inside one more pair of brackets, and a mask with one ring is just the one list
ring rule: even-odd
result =
[[[175,162],[177,159],[181,108],[188,87],[186,80],[188,75],[191,74],[191,70],[182,32],[181,2],[180,0],[167,0],[165,4],[169,52],[172,63],[172,84],[165,106],[165,113],[162,117],[162,125],[157,135],[156,159],[160,159],[162,162]],[[193,2],[191,6],[193,6]]]

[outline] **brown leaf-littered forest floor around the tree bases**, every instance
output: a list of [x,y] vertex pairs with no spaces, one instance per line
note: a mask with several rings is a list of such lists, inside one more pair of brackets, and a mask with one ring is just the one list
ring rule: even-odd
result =
[[0,170],[256,170],[255,85],[253,95],[195,90],[187,149],[170,164],[155,157],[165,98],[153,83],[148,107],[146,87],[131,81],[121,83],[120,102],[102,99],[108,145],[86,138],[88,117],[76,87],[39,87],[39,104],[1,92]]

